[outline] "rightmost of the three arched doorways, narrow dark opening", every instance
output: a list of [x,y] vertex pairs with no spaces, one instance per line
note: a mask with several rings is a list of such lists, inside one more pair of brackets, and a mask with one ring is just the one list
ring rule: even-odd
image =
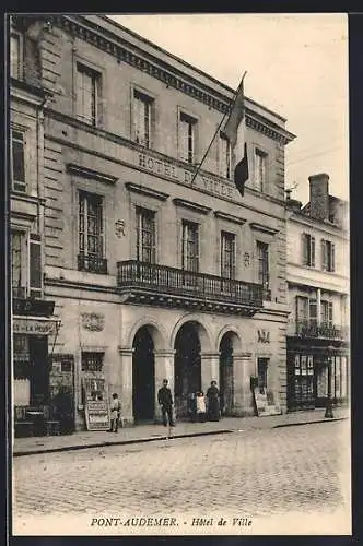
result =
[[232,415],[234,410],[234,381],[233,381],[233,332],[223,335],[220,343],[220,395],[223,415]]

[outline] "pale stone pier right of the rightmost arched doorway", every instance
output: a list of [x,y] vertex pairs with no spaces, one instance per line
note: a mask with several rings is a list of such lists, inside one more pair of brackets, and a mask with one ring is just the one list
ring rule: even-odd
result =
[[234,353],[234,413],[237,416],[254,415],[250,376],[254,375],[251,353]]

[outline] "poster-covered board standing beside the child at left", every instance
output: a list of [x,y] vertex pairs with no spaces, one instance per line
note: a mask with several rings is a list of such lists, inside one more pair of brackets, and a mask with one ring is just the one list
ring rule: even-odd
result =
[[105,379],[96,375],[84,375],[83,393],[87,430],[109,430],[109,400]]

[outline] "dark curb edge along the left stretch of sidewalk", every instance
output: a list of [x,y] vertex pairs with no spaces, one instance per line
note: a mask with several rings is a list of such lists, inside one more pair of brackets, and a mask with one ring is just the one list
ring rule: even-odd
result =
[[[233,432],[230,429],[221,429],[221,430],[209,430],[206,432],[191,432],[190,435],[173,435],[169,439],[174,440],[177,438],[194,438],[198,436],[212,436],[212,435],[225,435]],[[130,446],[134,443],[148,443],[165,440],[165,436],[161,435],[155,438],[134,438],[133,440],[119,440],[115,442],[99,442],[99,443],[86,443],[82,446],[61,446],[59,448],[49,448],[49,449],[32,449],[28,451],[15,451],[13,452],[13,456],[25,456],[25,455],[39,455],[43,453],[56,453],[61,451],[78,451],[81,449],[91,449],[91,448],[108,448],[109,446]]]

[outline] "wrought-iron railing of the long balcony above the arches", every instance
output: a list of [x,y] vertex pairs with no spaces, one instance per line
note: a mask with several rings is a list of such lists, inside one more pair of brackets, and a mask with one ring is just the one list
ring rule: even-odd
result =
[[262,286],[206,273],[128,260],[117,263],[117,284],[154,293],[262,307]]

